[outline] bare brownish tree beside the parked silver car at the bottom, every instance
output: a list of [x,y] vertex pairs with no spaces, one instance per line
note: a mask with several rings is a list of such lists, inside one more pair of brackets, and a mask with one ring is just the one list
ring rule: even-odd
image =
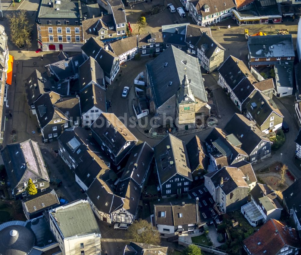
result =
[[160,244],[160,234],[157,229],[153,229],[151,223],[146,220],[139,220],[129,226],[127,232],[128,238],[134,242],[144,244]]

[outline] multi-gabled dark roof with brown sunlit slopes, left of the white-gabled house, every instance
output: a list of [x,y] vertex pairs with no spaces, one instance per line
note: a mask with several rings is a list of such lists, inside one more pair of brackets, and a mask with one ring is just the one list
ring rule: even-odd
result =
[[[51,91],[39,97],[34,105],[41,128],[44,128],[51,120],[57,118],[63,118],[68,121],[81,118],[78,96],[62,97]],[[69,115],[67,112],[69,112]]]

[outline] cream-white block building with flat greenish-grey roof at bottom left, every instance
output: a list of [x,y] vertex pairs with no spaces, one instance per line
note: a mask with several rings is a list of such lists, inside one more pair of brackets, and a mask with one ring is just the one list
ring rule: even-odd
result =
[[88,201],[57,207],[49,216],[50,229],[63,255],[101,255],[101,233]]

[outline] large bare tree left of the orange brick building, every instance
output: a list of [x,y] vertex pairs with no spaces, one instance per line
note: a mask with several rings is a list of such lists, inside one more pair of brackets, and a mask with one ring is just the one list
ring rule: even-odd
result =
[[26,10],[13,12],[9,17],[10,39],[18,48],[31,46],[31,29],[33,24],[27,17]]

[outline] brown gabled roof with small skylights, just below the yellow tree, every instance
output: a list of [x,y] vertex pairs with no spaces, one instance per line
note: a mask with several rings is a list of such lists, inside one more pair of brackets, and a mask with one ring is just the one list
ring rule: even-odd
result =
[[[29,214],[34,214],[36,212],[46,210],[48,207],[55,207],[60,205],[60,201],[57,198],[57,194],[53,190],[44,191],[36,195],[32,195],[27,198],[23,198],[21,202],[24,204],[26,210]],[[42,205],[44,204],[44,206]],[[36,207],[36,210],[34,209]]]

